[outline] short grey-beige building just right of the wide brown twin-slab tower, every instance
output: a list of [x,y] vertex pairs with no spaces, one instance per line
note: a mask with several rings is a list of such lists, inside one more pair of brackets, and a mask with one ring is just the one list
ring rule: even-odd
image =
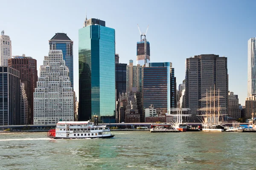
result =
[[231,91],[228,92],[228,116],[235,119],[241,118],[238,95]]

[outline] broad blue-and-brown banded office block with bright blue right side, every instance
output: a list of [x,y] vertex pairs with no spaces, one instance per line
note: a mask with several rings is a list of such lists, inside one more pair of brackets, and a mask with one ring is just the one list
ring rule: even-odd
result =
[[143,67],[143,108],[154,105],[157,113],[176,107],[176,78],[172,62],[151,62]]

